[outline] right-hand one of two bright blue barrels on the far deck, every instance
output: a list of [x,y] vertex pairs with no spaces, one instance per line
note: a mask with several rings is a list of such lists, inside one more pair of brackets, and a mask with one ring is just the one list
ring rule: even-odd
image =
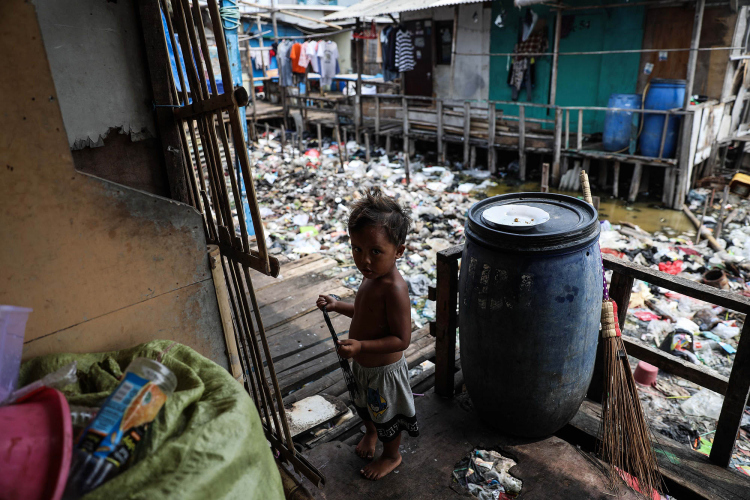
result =
[[[644,102],[645,109],[681,108],[685,100],[685,80],[655,78],[651,81]],[[661,134],[666,115],[644,114],[643,130],[639,146],[641,155],[658,157],[661,145]],[[680,131],[680,116],[672,116],[667,124],[667,137],[664,140],[663,158],[674,158],[677,148],[677,134]]]

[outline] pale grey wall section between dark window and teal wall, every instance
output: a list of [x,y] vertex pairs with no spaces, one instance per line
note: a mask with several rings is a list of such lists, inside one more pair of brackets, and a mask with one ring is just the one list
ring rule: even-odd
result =
[[[433,20],[433,36],[436,21],[452,21],[455,7],[439,7],[402,12],[403,21],[419,19]],[[487,99],[490,75],[490,22],[492,10],[482,3],[458,6],[458,29],[456,53],[460,54],[451,66],[436,64],[433,70],[433,93],[446,99]],[[473,55],[476,54],[476,55]],[[435,57],[435,54],[433,54]],[[453,92],[451,93],[451,78]]]

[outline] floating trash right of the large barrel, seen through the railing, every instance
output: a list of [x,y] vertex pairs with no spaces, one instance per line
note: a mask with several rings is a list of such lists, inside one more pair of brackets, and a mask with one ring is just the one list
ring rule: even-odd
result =
[[[690,193],[691,210],[698,218],[705,196],[711,194],[706,191]],[[705,240],[694,244],[696,232],[678,235],[665,230],[651,234],[638,226],[605,221],[600,238],[602,252],[698,282],[709,283],[707,278],[711,275],[707,273],[714,271],[713,275],[726,279],[713,286],[750,296],[750,204],[734,196],[729,201],[725,217],[735,210],[737,213],[725,226],[722,237],[716,236],[718,251]],[[703,219],[712,230],[720,219],[718,203],[716,200]],[[610,272],[607,274],[609,277]],[[623,335],[639,338],[728,377],[744,321],[744,314],[636,280]],[[635,367],[637,360],[631,359],[631,364]],[[653,386],[639,389],[654,431],[700,453],[710,453],[723,402],[721,395],[663,371],[659,371]],[[731,466],[750,475],[750,408],[745,411]]]

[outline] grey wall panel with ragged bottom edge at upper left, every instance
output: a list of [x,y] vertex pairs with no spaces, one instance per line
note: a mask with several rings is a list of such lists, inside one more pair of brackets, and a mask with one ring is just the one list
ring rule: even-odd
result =
[[68,144],[103,145],[111,128],[155,137],[134,0],[34,0]]

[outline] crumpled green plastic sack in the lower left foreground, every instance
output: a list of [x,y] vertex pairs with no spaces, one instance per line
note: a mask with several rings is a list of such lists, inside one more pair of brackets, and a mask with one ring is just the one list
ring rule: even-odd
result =
[[100,406],[130,361],[160,354],[178,384],[138,449],[142,458],[83,498],[282,500],[252,399],[225,369],[187,346],[156,340],[115,352],[41,356],[23,363],[19,385],[77,361],[79,380],[63,390],[68,403]]

